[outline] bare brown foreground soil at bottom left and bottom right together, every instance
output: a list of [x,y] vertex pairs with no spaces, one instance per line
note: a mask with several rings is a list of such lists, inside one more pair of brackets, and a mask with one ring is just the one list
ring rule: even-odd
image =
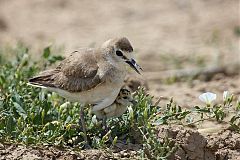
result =
[[[230,130],[203,136],[199,132],[181,126],[161,126],[160,138],[172,138],[179,148],[169,159],[191,160],[238,160],[240,159],[240,135]],[[118,144],[117,144],[118,146]],[[119,150],[120,148],[120,150]],[[139,159],[138,147],[122,146],[113,150],[70,151],[54,147],[31,147],[13,144],[0,144],[0,159]]]

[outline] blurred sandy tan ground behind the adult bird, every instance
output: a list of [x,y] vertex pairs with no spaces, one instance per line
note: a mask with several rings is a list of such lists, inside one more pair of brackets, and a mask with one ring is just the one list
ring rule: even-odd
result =
[[[189,106],[204,91],[240,95],[238,68],[231,76],[191,76],[198,68],[239,64],[239,5],[239,0],[0,0],[0,47],[22,42],[37,57],[49,45],[69,54],[126,36],[149,92]],[[177,81],[171,71],[191,78]]]

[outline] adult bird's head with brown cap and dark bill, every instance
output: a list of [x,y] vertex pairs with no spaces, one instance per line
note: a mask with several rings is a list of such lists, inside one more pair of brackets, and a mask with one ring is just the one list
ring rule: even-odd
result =
[[133,47],[129,40],[125,37],[110,39],[106,41],[102,48],[108,49],[108,54],[114,63],[128,64],[138,74],[142,68],[133,58]]

